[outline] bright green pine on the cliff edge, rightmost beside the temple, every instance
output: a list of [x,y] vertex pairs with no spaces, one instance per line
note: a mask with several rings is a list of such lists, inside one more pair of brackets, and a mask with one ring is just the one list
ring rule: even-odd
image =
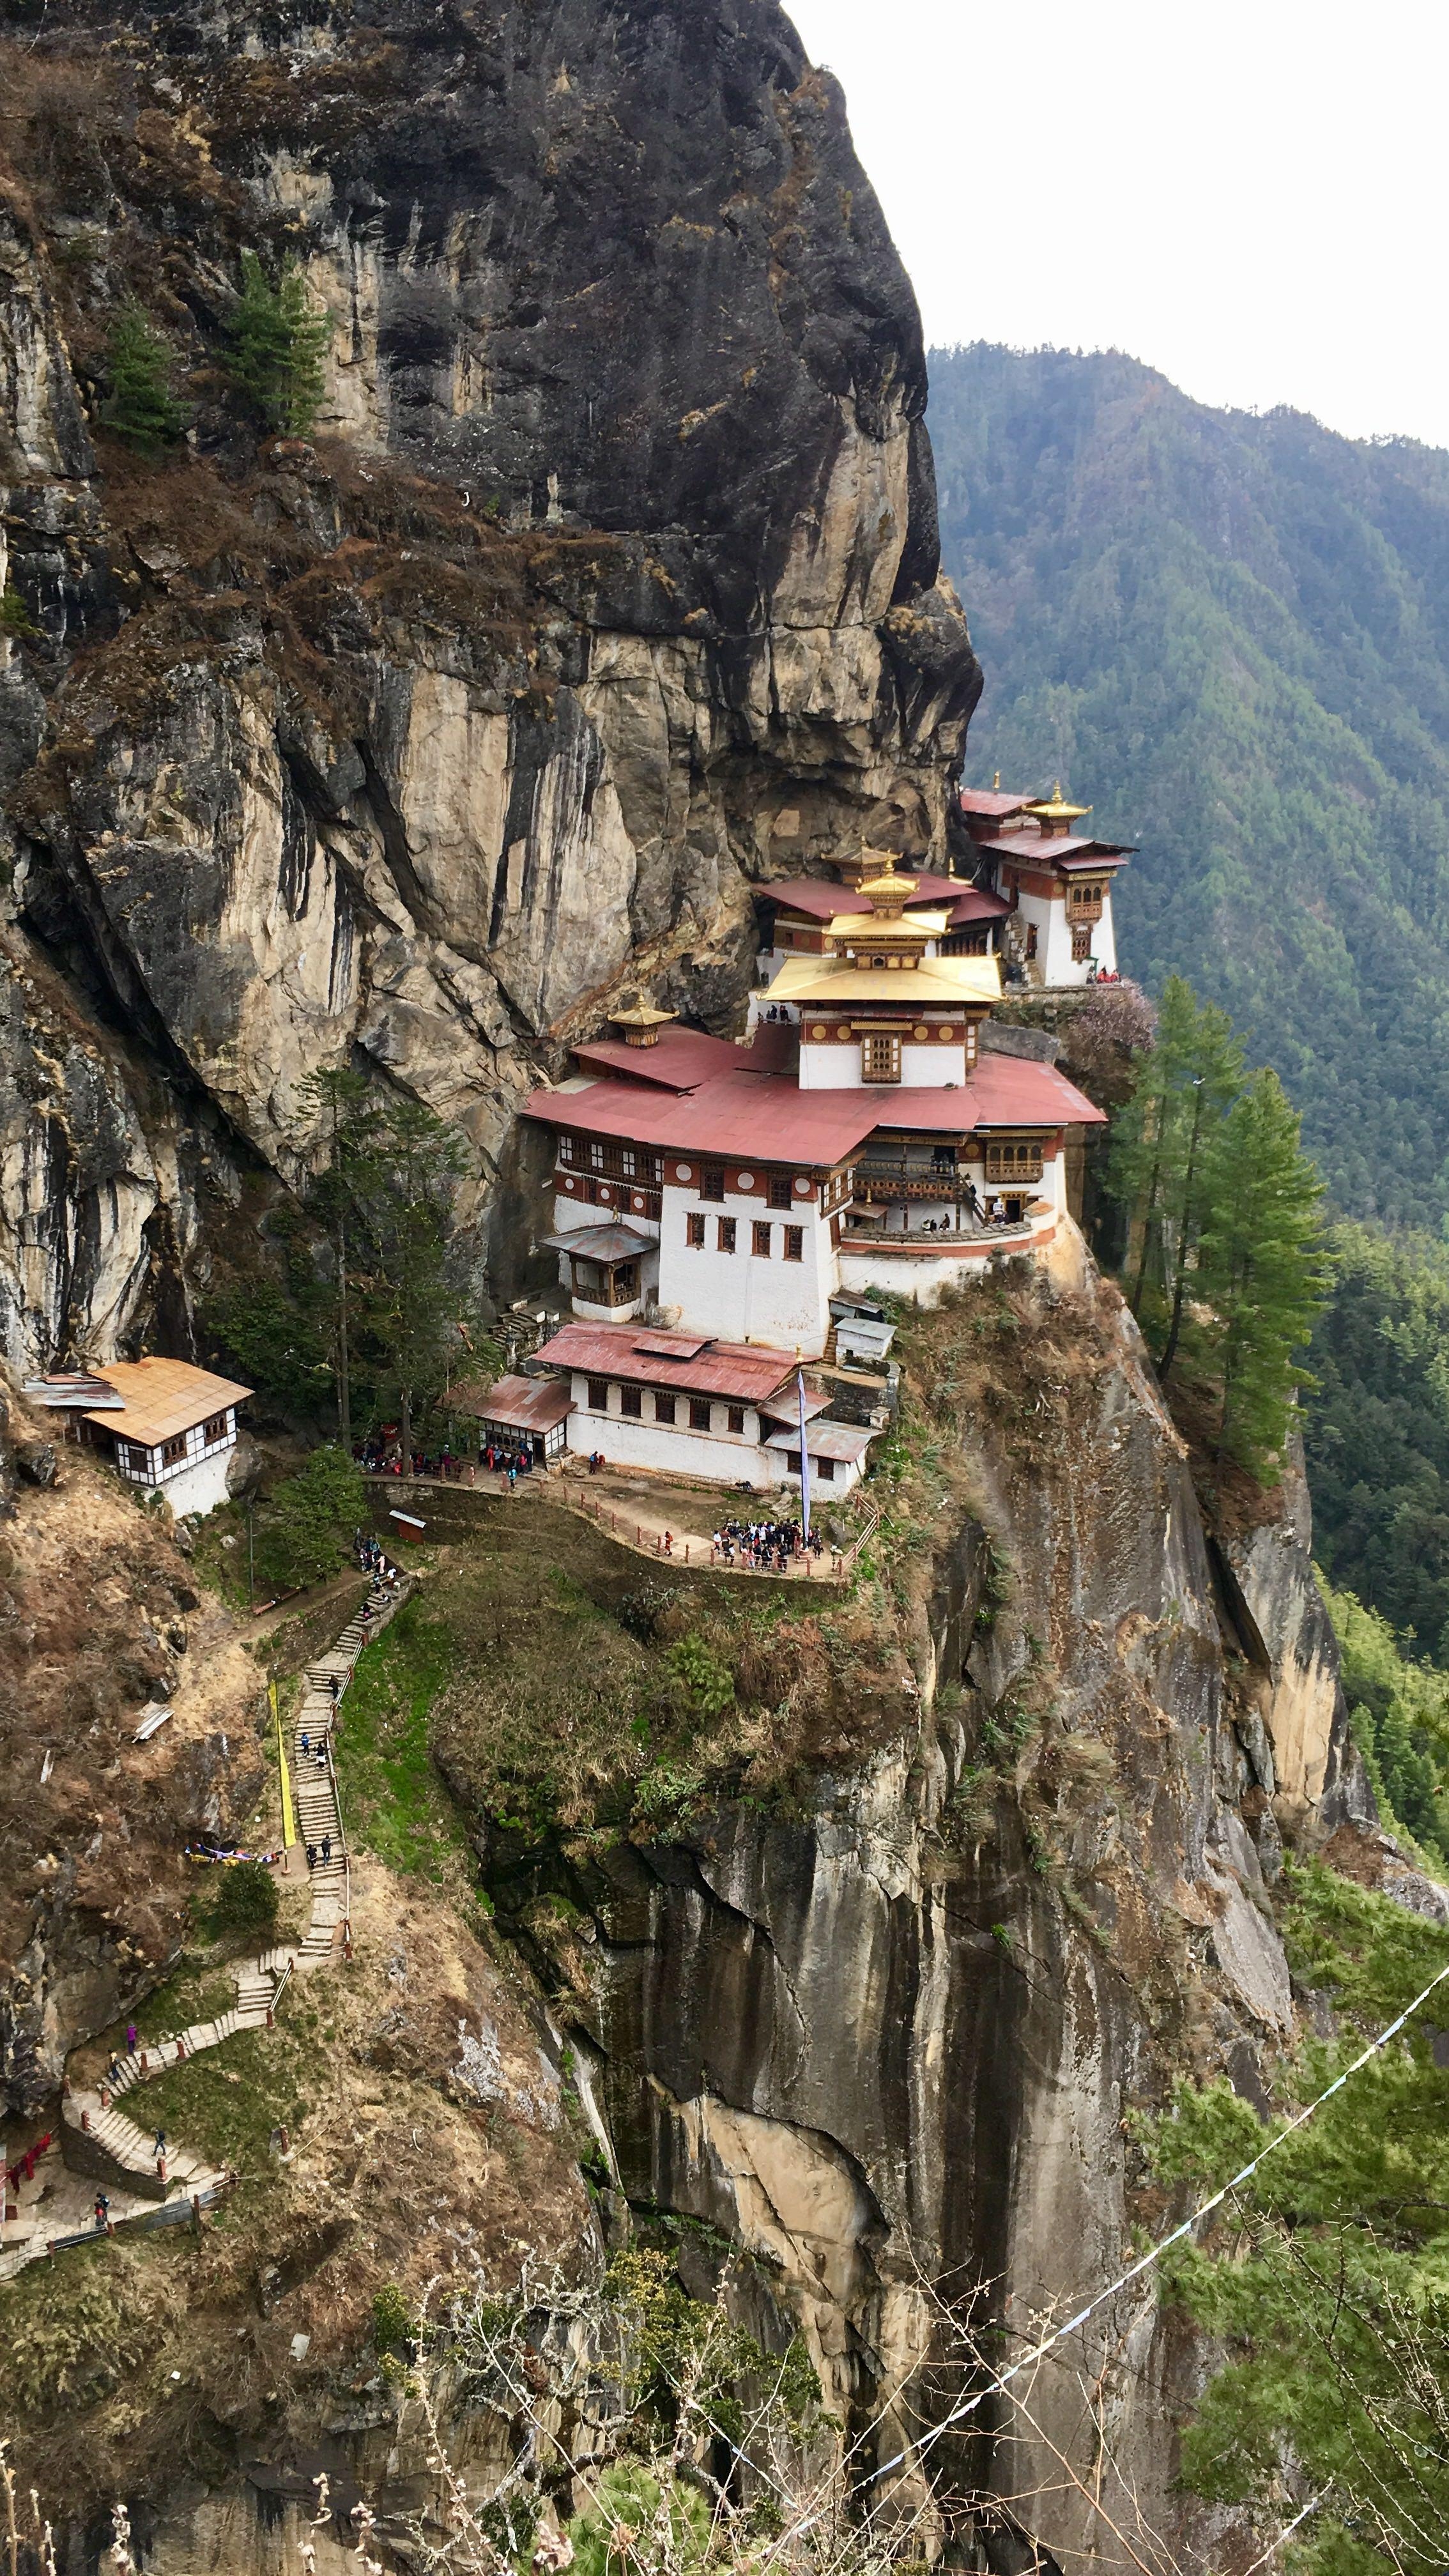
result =
[[1207,1157],[1201,1285],[1217,1311],[1220,1443],[1274,1484],[1289,1432],[1294,1363],[1328,1291],[1323,1182],[1276,1074],[1253,1074]]

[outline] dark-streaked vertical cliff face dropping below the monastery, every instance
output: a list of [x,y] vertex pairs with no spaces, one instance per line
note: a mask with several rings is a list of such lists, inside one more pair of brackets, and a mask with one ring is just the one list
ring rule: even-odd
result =
[[[982,1615],[982,1528],[941,1553],[920,1736],[817,1783],[807,1814],[719,1801],[570,1886],[601,1929],[585,2040],[629,2195],[758,2257],[779,2334],[804,2331],[869,2460],[908,2450],[908,2486],[920,2424],[962,2391],[931,2370],[949,2334],[928,2285],[987,2285],[993,2354],[1073,2316],[1160,2215],[1129,2115],[1183,2069],[1261,2099],[1261,2053],[1292,2030],[1279,1842],[1186,1455],[1111,1288],[1078,1329],[1070,1383],[1031,1376],[1042,1404],[982,1414],[972,1440],[1013,1597]],[[1310,1597],[1305,1556],[1269,1605],[1276,1654]],[[1047,1716],[982,1795],[982,1726],[1000,1747],[1024,1692]],[[1003,2512],[1031,2499],[1016,2519],[1073,2566],[1104,2524],[1049,2445],[1080,2465],[1080,2375],[1104,2370],[1106,2509],[1220,2563],[1225,2530],[1173,2491],[1171,2424],[1204,2362],[1137,2282],[1034,2375],[1039,2432],[1016,2419],[990,2460],[969,2434],[1008,2414],[987,2406],[923,2465]]]

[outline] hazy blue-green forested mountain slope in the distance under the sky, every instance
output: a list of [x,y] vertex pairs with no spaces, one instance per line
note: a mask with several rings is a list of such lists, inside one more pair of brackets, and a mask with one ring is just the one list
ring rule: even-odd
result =
[[1127,971],[1222,1002],[1354,1216],[1449,1211],[1449,456],[1189,402],[1129,358],[936,353],[972,781],[1142,845]]

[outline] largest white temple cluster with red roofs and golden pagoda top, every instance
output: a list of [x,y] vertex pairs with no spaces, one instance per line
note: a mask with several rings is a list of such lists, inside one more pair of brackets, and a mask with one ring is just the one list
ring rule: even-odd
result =
[[[923,899],[866,853],[846,909],[838,886],[797,891],[771,886],[743,1041],[629,1010],[526,1103],[572,1306],[531,1363],[554,1445],[755,1489],[807,1458],[846,1492],[879,1422],[841,1419],[841,1316],[864,1303],[890,1347],[871,1291],[933,1303],[1047,1252],[1067,1216],[1067,1139],[1104,1113],[1052,1064],[982,1048],[1000,961],[962,945],[951,881]],[[779,907],[804,943],[779,943]],[[500,1417],[521,1401],[500,1388]]]

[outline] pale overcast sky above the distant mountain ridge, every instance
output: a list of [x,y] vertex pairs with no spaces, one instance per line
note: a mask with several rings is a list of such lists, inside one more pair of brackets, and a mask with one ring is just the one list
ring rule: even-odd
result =
[[926,335],[1449,446],[1444,0],[786,0]]

